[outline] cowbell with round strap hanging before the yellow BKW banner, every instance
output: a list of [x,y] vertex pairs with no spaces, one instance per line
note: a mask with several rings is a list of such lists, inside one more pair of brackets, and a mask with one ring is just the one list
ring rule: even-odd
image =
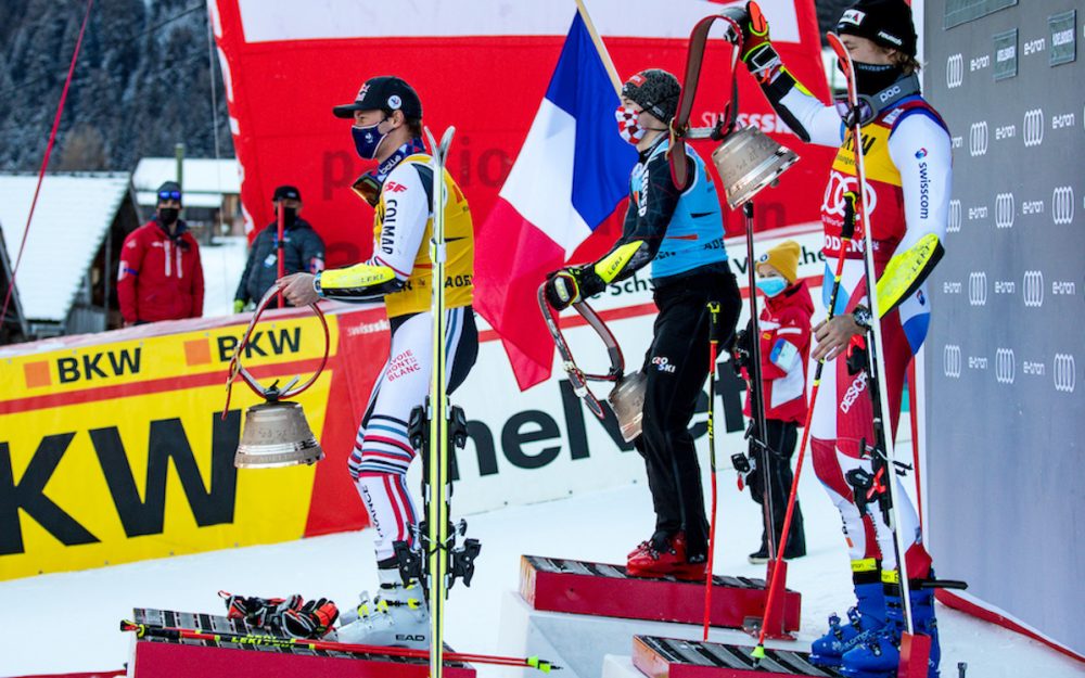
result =
[[264,398],[263,404],[254,405],[245,410],[245,427],[241,433],[238,452],[233,457],[233,465],[239,469],[273,469],[312,464],[324,458],[320,443],[312,435],[309,422],[305,420],[302,406],[297,402],[285,401],[285,398],[296,396],[311,386],[328,362],[331,337],[324,315],[317,305],[312,304],[309,308],[316,312],[324,331],[324,356],[320,361],[320,367],[304,384],[296,385],[301,378],[295,376],[281,389],[278,387],[278,381],[265,388],[241,364],[241,355],[245,346],[248,345],[248,340],[253,335],[260,314],[278,293],[278,285],[272,285],[260,303],[256,305],[256,312],[253,314],[248,328],[241,341],[238,342],[233,350],[233,358],[230,360],[230,375],[226,382],[226,409],[222,411],[222,415],[226,417],[226,412],[230,409],[230,393],[233,381],[238,376],[242,378],[253,393]]

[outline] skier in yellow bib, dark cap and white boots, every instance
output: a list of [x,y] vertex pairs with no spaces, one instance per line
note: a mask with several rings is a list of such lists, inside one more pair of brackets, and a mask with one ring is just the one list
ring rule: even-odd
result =
[[[335,106],[352,118],[355,149],[376,167],[355,182],[355,191],[375,209],[373,254],[367,260],[317,276],[284,278],[284,294],[295,306],[319,298],[346,302],[383,298],[392,325],[388,361],[378,378],[358,427],[349,470],[376,532],[381,590],[372,601],[344,614],[344,642],[426,648],[429,612],[417,580],[404,586],[393,543],[418,548],[419,512],[407,489],[407,469],[417,452],[407,436],[413,408],[423,404],[432,374],[433,283],[427,251],[433,214],[434,170],[422,145],[422,103],[413,88],[392,76],[370,78],[356,101]],[[474,232],[462,192],[445,172],[446,350],[448,393],[463,383],[478,353],[472,278]]]

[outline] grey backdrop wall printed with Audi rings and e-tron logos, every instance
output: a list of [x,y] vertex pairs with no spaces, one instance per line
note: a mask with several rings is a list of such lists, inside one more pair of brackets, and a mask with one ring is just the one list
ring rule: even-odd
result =
[[1081,0],[928,0],[924,86],[954,145],[930,284],[939,575],[1085,654]]

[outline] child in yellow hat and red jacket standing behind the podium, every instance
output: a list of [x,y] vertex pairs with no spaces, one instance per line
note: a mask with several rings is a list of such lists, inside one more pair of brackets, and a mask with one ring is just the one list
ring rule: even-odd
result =
[[[757,503],[764,501],[766,476],[768,491],[773,499],[773,524],[776,542],[779,543],[783,530],[783,519],[791,494],[791,457],[799,442],[799,426],[806,421],[806,363],[810,355],[810,316],[814,302],[810,299],[806,282],[797,280],[799,243],[793,240],[780,243],[757,259],[757,290],[765,299],[758,327],[761,331],[761,393],[765,402],[766,435],[761,437],[768,446],[768,472],[765,473],[762,457],[750,446],[753,471],[746,476],[750,496]],[[752,345],[749,328],[739,333],[735,342],[736,367],[746,372]],[[744,413],[751,415],[750,396],[746,396]],[[751,437],[752,439],[752,437]],[[801,558],[806,554],[806,536],[803,530],[803,512],[795,500],[795,511],[791,519],[791,530],[783,558]],[[761,548],[750,554],[751,563],[768,560],[768,536],[762,533]]]

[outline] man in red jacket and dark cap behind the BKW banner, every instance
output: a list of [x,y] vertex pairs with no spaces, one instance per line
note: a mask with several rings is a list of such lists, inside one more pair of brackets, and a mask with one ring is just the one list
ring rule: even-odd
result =
[[158,187],[155,217],[128,234],[120,251],[117,297],[125,325],[203,315],[200,246],[179,218],[181,187]]

